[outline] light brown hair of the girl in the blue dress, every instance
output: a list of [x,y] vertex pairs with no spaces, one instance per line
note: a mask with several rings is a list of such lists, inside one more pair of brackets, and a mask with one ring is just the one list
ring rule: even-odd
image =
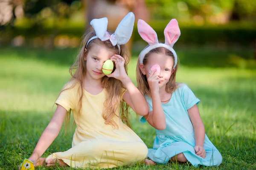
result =
[[[150,57],[151,54],[154,54],[154,53],[165,54],[167,56],[172,57],[172,59],[174,60],[174,55],[173,55],[172,51],[169,51],[167,48],[164,48],[164,47],[157,47],[157,48],[152,49],[151,51],[149,51],[145,55],[145,57],[143,59],[143,65],[146,65],[148,63],[148,58]],[[177,83],[176,83],[176,72],[177,72],[177,69],[178,69],[178,62],[177,62],[177,65],[175,67],[175,71],[172,73],[169,81],[166,84],[166,92],[167,93],[172,93],[172,92],[174,92],[177,89]],[[141,91],[141,93],[143,95],[146,94],[148,96],[151,96],[147,77],[140,70],[140,60],[139,60],[139,57],[138,57],[138,61],[137,61],[136,77],[137,77],[138,88]]]

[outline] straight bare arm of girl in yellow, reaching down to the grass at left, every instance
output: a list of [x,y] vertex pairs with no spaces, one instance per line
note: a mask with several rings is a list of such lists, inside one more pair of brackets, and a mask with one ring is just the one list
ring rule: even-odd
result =
[[43,155],[45,150],[47,150],[47,148],[52,144],[52,142],[58,136],[58,133],[61,130],[61,125],[64,121],[66,113],[67,113],[67,110],[64,109],[61,105],[57,106],[51,121],[45,128],[38,143],[36,144],[36,147],[35,147],[35,150],[33,151],[32,156],[30,156],[29,158],[29,160],[34,162],[34,164],[36,164],[36,161]]

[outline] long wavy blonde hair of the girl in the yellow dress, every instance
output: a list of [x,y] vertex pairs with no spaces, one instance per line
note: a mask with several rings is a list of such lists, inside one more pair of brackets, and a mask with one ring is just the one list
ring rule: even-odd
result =
[[[109,33],[112,34],[111,32],[109,32]],[[88,40],[93,36],[96,36],[95,31],[90,31],[90,32],[84,34],[84,38],[81,42],[79,54],[76,58],[76,61],[70,67],[70,70],[69,70],[70,75],[72,76],[72,78],[70,79],[69,82],[75,81],[79,84],[79,90],[78,90],[79,103],[78,103],[78,114],[77,114],[78,117],[81,115],[82,98],[84,95],[83,79],[84,79],[84,76],[86,73],[86,63],[85,63],[84,59],[85,59],[86,55],[88,54],[88,52],[90,51],[90,49],[92,48],[94,43],[102,45],[105,48],[107,48],[108,50],[113,51],[114,54],[119,54],[120,56],[122,56],[125,59],[124,67],[125,67],[125,71],[127,73],[127,65],[129,62],[129,55],[128,55],[126,46],[120,45],[120,53],[119,53],[119,49],[118,49],[117,45],[113,46],[109,40],[101,41],[99,38],[96,38],[94,40],[91,40],[88,43],[87,48],[86,48],[87,50],[85,51],[85,46],[86,46]],[[75,84],[76,83],[74,83],[74,85],[70,88],[73,88],[75,86]],[[123,93],[123,90],[125,89],[122,82],[113,77],[104,76],[102,78],[102,86],[107,91],[106,100],[104,102],[104,109],[103,109],[103,113],[102,113],[102,116],[105,119],[105,124],[112,125],[113,127],[118,128],[118,125],[112,120],[112,118],[116,115],[116,111],[119,110],[119,108],[120,108],[120,116],[119,116],[120,119],[122,119],[122,122],[124,122],[126,125],[131,127],[131,124],[128,119],[129,106],[125,102],[120,100],[120,95]],[[67,88],[67,89],[70,89],[70,88]],[[64,90],[67,90],[67,89],[64,89]],[[62,90],[62,91],[64,91],[64,90]],[[61,94],[61,92],[60,92],[60,94]],[[71,110],[68,111],[68,113],[66,115],[66,118],[65,118],[66,125],[70,122],[70,113],[71,113]],[[116,115],[116,116],[118,116],[118,115]]]

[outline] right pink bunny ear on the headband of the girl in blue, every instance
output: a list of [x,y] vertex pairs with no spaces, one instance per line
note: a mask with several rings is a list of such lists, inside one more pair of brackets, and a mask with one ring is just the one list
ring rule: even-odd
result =
[[173,47],[180,37],[180,28],[176,19],[172,19],[164,29],[165,44]]

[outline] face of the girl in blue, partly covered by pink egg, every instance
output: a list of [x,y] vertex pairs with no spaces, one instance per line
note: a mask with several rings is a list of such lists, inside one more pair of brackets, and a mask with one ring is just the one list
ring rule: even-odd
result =
[[167,82],[169,82],[169,79],[172,73],[175,71],[175,68],[173,68],[174,59],[165,54],[157,54],[157,53],[150,54],[148,56],[148,62],[145,65],[140,64],[140,70],[144,75],[146,75],[147,79],[149,77],[148,72],[150,68],[155,64],[160,65],[160,68],[161,68],[160,74],[159,74],[159,78],[161,80],[159,82],[159,88],[163,88],[163,87],[165,88]]

